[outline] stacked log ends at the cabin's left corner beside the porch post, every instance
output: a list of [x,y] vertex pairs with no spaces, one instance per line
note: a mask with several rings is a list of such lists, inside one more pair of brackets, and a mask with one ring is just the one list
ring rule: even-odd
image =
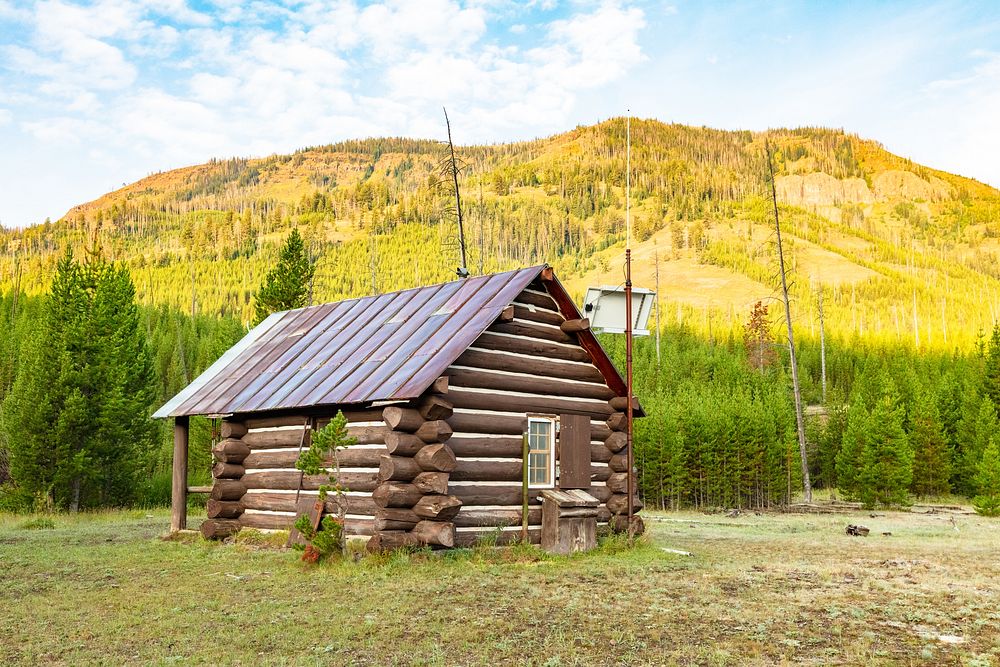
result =
[[215,459],[212,493],[205,508],[208,519],[201,524],[201,534],[205,539],[223,539],[240,529],[243,496],[247,491],[243,483],[243,462],[250,455],[250,448],[242,441],[246,434],[245,423],[222,422],[222,440],[212,448]]

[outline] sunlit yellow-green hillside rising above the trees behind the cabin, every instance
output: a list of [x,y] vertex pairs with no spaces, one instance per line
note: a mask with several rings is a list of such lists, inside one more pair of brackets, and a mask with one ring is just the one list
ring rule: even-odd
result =
[[[616,119],[462,147],[473,272],[549,261],[578,295],[621,283],[624,134]],[[967,347],[1000,315],[993,188],[833,130],[639,121],[632,134],[636,284],[659,273],[665,321],[728,331],[774,296],[765,140],[800,330],[815,332],[819,286],[829,330],[844,337]],[[317,301],[449,280],[457,233],[442,156],[436,142],[369,139],[154,174],[57,222],[0,232],[0,291],[43,291],[67,242],[97,238],[131,267],[143,302],[248,320],[292,226],[318,258]]]

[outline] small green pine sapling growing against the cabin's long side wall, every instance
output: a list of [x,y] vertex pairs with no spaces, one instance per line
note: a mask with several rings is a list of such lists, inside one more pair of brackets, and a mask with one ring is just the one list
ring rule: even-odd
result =
[[330,420],[330,423],[312,434],[309,448],[299,455],[295,462],[295,467],[305,475],[329,475],[330,469],[326,467],[327,461],[332,455],[334,470],[330,477],[331,484],[323,484],[319,487],[319,500],[325,503],[330,493],[334,494],[334,503],[337,506],[336,516],[327,515],[320,522],[319,529],[314,529],[308,514],[301,515],[295,520],[295,528],[302,534],[302,537],[309,543],[306,546],[296,545],[304,549],[302,560],[315,563],[333,554],[335,551],[344,552],[344,517],[347,515],[347,487],[340,484],[340,461],[338,452],[351,445],[357,444],[357,438],[350,436],[347,432],[347,417],[343,412],[338,411],[337,415]]

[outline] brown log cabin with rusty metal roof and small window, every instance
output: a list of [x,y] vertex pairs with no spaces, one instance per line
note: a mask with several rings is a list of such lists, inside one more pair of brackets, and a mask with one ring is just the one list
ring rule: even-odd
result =
[[174,420],[171,529],[195,490],[191,416],[221,419],[201,531],[223,537],[291,527],[329,481],[298,455],[343,411],[357,440],[337,456],[345,533],[371,549],[514,541],[525,509],[538,543],[546,489],[589,494],[598,527],[623,530],[625,396],[546,265],[275,313],[154,414]]

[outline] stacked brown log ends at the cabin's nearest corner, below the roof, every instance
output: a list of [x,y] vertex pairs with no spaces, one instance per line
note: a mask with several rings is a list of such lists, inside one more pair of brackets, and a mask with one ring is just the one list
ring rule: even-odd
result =
[[457,465],[445,444],[451,427],[445,421],[452,406],[443,396],[446,382],[435,383],[423,397],[406,406],[385,408],[390,429],[379,461],[372,499],[375,511],[370,551],[400,547],[455,546],[453,519],[462,501],[448,495],[448,481]]

